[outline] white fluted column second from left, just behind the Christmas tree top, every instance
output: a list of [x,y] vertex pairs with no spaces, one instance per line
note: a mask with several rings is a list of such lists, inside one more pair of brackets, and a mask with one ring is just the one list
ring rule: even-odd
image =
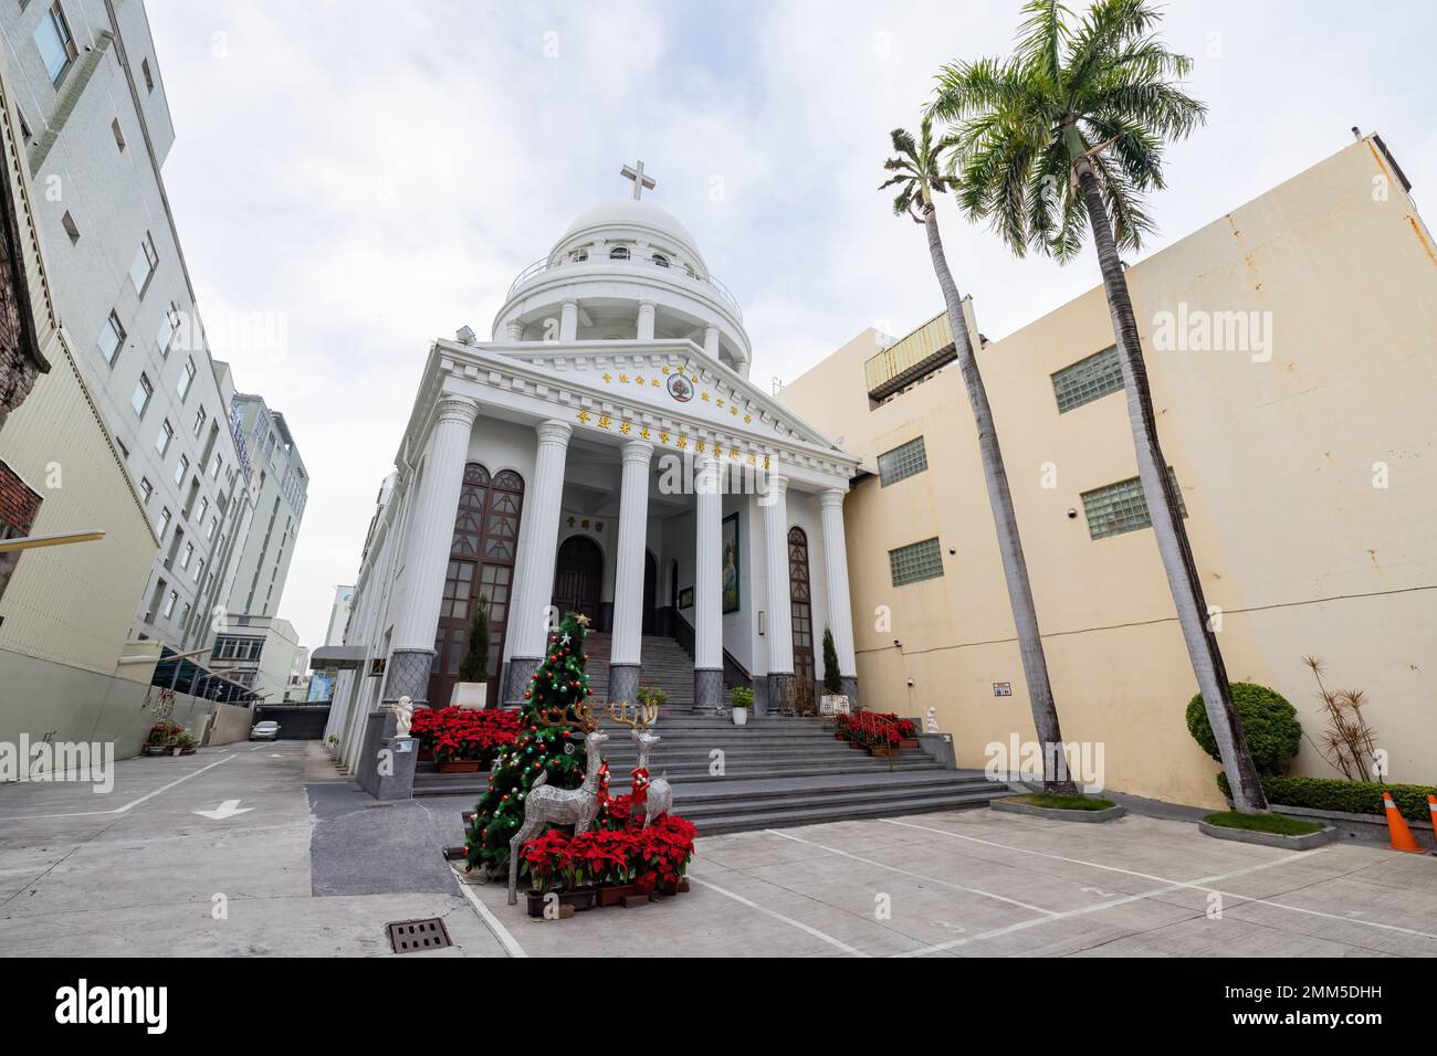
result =
[[[536,427],[539,450],[535,478],[525,494],[525,513],[519,529],[519,559],[514,569],[514,593],[509,606],[509,634],[514,661],[543,657],[549,642],[545,621],[553,598],[553,562],[559,546],[559,513],[563,503],[563,464],[569,448],[568,422],[543,421]],[[523,678],[527,681],[536,664]],[[519,687],[520,693],[523,687]],[[506,694],[506,701],[509,695]]]

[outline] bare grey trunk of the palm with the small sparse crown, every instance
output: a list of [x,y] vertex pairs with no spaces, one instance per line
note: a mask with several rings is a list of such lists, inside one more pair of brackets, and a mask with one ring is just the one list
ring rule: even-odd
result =
[[[1068,757],[1063,754],[1063,734],[1058,726],[1053,687],[1048,681],[1048,658],[1043,655],[1043,639],[1038,629],[1033,588],[1027,580],[1023,540],[1017,534],[1017,514],[1013,511],[1013,496],[1007,488],[1003,451],[997,445],[993,409],[989,407],[987,389],[983,386],[979,362],[973,355],[973,339],[963,318],[963,300],[958,297],[953,273],[948,272],[948,259],[943,251],[943,238],[938,234],[938,214],[931,201],[924,203],[923,224],[928,231],[928,253],[933,256],[933,270],[938,274],[938,286],[943,289],[943,303],[948,312],[948,330],[953,333],[953,348],[957,352],[963,382],[969,389],[973,424],[979,432],[983,480],[987,483],[999,552],[1003,555],[1003,578],[1007,580],[1007,601],[1013,609],[1013,625],[1017,629],[1023,680],[1027,682],[1027,700],[1033,708],[1033,727],[1043,746],[1043,790],[1055,795],[1075,795],[1078,786],[1068,773]],[[1009,769],[1013,769],[1012,760]]]

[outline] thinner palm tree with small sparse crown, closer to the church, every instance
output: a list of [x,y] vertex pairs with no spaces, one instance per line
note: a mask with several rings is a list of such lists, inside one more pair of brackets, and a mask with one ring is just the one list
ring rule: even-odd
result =
[[[908,216],[914,223],[923,224],[928,234],[933,270],[937,273],[938,286],[943,290],[948,330],[953,333],[953,348],[957,353],[958,369],[963,372],[963,382],[969,389],[973,422],[977,425],[983,480],[987,483],[999,552],[1003,555],[1003,578],[1007,580],[1007,601],[1013,608],[1013,624],[1017,628],[1017,648],[1023,661],[1027,698],[1033,708],[1033,727],[1043,746],[1043,789],[1058,795],[1072,795],[1078,789],[1068,774],[1063,734],[1058,726],[1053,687],[1048,681],[1048,658],[1043,655],[1043,639],[1038,631],[1033,588],[1027,580],[1027,562],[1023,559],[1023,540],[1017,534],[1017,516],[1013,513],[1013,496],[1007,488],[1003,451],[997,444],[993,409],[989,407],[987,389],[983,386],[983,376],[979,374],[979,363],[973,355],[973,339],[963,318],[963,299],[958,296],[958,287],[948,270],[948,259],[943,251],[943,238],[938,234],[938,214],[933,207],[934,193],[943,194],[957,187],[957,181],[951,175],[943,174],[940,164],[953,141],[941,139],[935,144],[933,141],[933,118],[925,116],[917,139],[911,132],[895,128],[892,144],[897,157],[885,161],[884,168],[894,175],[878,190],[898,187],[898,195],[894,198],[894,214]],[[1012,761],[1009,769],[1015,769]]]

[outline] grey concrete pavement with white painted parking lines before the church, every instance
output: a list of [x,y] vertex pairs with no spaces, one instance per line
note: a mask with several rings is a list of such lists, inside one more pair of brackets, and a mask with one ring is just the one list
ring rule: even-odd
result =
[[108,795],[3,786],[0,953],[392,955],[387,922],[441,917],[454,948],[412,955],[1437,955],[1434,858],[1132,815],[711,836],[688,894],[533,921],[443,862],[471,806],[378,805],[292,741],[124,760]]

